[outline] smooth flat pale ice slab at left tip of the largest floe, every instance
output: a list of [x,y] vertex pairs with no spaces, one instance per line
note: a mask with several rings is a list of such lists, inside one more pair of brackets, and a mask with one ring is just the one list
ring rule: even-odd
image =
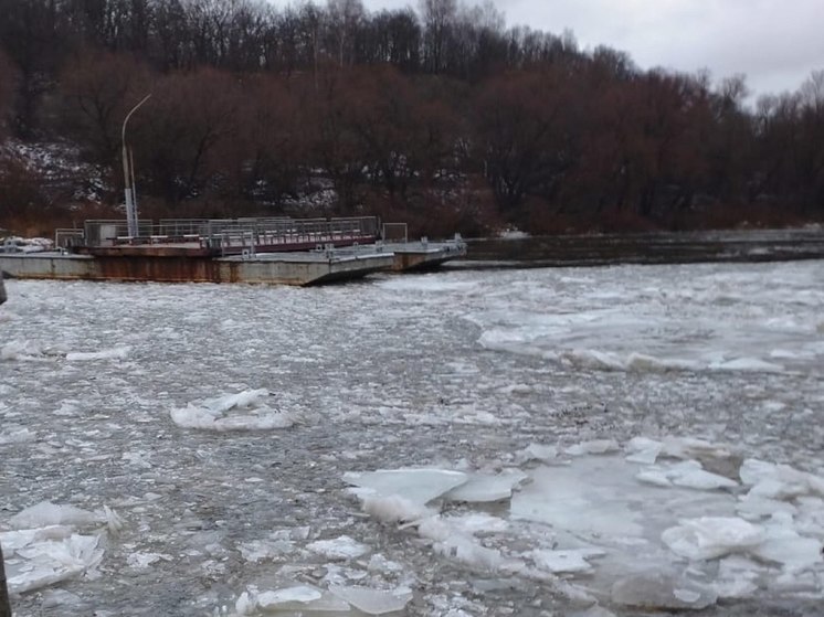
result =
[[362,498],[399,496],[410,503],[424,506],[466,483],[468,476],[446,469],[406,468],[348,471],[344,480],[363,489],[356,491]]

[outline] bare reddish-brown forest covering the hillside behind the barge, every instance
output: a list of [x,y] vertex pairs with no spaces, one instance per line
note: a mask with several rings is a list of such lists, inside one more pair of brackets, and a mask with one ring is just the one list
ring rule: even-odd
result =
[[0,227],[377,214],[482,235],[824,219],[824,71],[642,71],[494,4],[0,0]]

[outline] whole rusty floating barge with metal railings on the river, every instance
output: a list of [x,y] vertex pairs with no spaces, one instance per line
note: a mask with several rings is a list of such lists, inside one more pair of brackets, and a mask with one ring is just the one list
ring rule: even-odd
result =
[[384,243],[378,227],[371,216],[161,220],[139,221],[129,236],[125,221],[95,220],[57,230],[56,252],[0,253],[0,269],[18,278],[317,285],[466,254],[457,236]]

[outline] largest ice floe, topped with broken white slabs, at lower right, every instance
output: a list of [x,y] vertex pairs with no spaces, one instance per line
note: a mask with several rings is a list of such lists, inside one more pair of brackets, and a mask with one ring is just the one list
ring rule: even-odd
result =
[[[434,555],[477,572],[561,576],[569,597],[594,592],[649,609],[700,609],[768,588],[824,598],[817,476],[675,437],[534,444],[514,458],[526,467],[497,476],[462,467],[345,480],[359,487],[367,513],[414,530]],[[507,517],[453,511],[487,501],[508,504]],[[516,549],[527,542],[530,550]]]

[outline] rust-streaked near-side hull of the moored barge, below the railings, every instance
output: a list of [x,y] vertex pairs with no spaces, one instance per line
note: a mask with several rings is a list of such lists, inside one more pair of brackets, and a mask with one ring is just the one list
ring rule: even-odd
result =
[[89,256],[41,253],[0,255],[0,269],[15,278],[158,283],[317,285],[360,278],[391,268],[391,253],[357,255],[266,254],[213,258],[194,255]]

